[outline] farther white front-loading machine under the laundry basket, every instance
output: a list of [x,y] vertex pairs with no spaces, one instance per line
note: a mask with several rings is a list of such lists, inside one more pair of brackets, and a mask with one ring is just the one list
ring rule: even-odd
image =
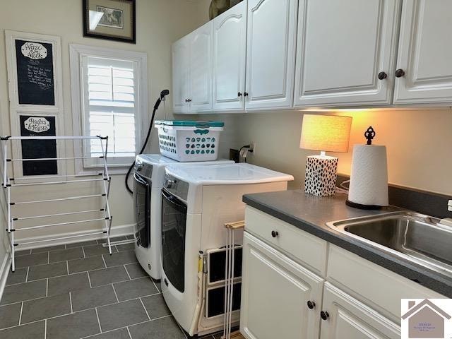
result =
[[141,267],[154,279],[160,279],[160,220],[162,213],[161,189],[167,165],[181,166],[230,164],[232,160],[178,162],[160,154],[136,156],[133,181],[135,208],[135,253]]

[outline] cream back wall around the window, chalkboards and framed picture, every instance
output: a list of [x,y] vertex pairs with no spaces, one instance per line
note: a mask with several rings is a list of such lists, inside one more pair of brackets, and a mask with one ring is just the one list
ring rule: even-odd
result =
[[[64,94],[64,120],[65,133],[73,134],[71,112],[71,88],[69,74],[69,44],[87,44],[100,47],[127,49],[148,54],[148,89],[149,109],[151,110],[160,91],[171,89],[171,44],[183,35],[191,32],[208,16],[208,0],[137,0],[136,1],[136,44],[124,42],[112,42],[95,38],[83,37],[82,28],[82,1],[81,0],[14,0],[1,1],[0,11],[0,114],[3,124],[0,122],[2,134],[9,132],[8,113],[8,83],[6,78],[6,51],[4,30],[18,30],[46,35],[59,35],[61,37],[61,61],[63,66],[63,94]],[[161,106],[162,107],[162,106]],[[171,116],[171,103],[167,103],[167,112]],[[163,107],[162,107],[163,108]],[[163,109],[160,109],[157,117],[163,117]],[[76,113],[76,112],[75,112]],[[144,137],[144,136],[143,136]],[[148,153],[157,152],[157,139],[154,133],[152,147]],[[71,149],[68,150],[71,156]],[[69,163],[69,172],[73,170],[73,164]],[[53,188],[52,188],[53,189]],[[90,186],[78,192],[93,191]],[[67,188],[57,191],[57,194],[67,194]],[[74,194],[75,195],[75,194]],[[32,194],[29,189],[20,191],[15,195],[17,201],[21,199],[39,198],[41,194]],[[124,188],[124,175],[115,175],[112,179],[111,206],[113,225],[131,225],[133,222],[131,196]],[[87,203],[54,204],[54,210],[71,208],[79,210]],[[89,206],[89,204],[88,204]],[[21,213],[40,212],[27,208]],[[55,219],[54,219],[55,220]],[[44,221],[44,220],[42,220]],[[55,220],[59,222],[61,220]],[[0,220],[3,223],[3,220]],[[68,231],[93,230],[99,225],[85,225],[68,227]],[[3,225],[1,228],[4,228]],[[61,230],[61,229],[59,229]],[[50,234],[57,230],[48,229]],[[45,233],[40,233],[45,234]],[[3,236],[3,231],[1,231]],[[37,233],[22,232],[18,237],[37,236]],[[0,250],[1,251],[1,250]]]

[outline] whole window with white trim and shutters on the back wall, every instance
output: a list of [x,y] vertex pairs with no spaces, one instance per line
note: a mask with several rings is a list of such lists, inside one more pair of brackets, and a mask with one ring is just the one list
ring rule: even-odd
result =
[[[70,49],[74,135],[108,136],[107,162],[128,167],[147,125],[145,54],[73,44]],[[99,140],[84,141],[77,152],[83,157],[77,172],[101,165]]]

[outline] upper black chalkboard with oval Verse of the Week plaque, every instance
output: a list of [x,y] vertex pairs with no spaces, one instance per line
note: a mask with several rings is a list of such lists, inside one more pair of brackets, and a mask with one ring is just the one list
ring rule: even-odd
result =
[[19,104],[55,105],[52,44],[16,40]]

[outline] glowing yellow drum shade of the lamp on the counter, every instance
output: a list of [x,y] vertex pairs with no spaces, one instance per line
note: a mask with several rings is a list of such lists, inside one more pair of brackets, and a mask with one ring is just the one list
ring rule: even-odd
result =
[[348,152],[352,117],[304,114],[299,148]]

